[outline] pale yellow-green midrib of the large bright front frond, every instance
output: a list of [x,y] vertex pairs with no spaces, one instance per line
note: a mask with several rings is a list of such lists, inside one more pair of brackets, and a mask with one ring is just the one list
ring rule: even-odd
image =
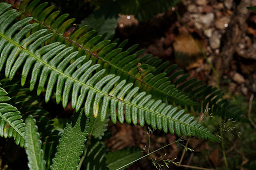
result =
[[39,62],[43,63],[45,66],[48,66],[48,67],[51,68],[52,70],[58,72],[59,74],[65,76],[65,77],[67,77],[67,78],[69,78],[69,79],[71,79],[71,80],[73,80],[73,81],[75,81],[75,82],[77,82],[77,83],[80,83],[81,85],[84,85],[84,86],[86,86],[86,87],[88,87],[88,88],[91,88],[91,89],[95,90],[96,92],[101,93],[101,94],[103,94],[103,95],[105,95],[105,96],[108,96],[108,97],[110,97],[110,98],[112,98],[112,99],[114,99],[114,100],[121,101],[121,102],[123,102],[123,103],[125,103],[125,104],[131,105],[131,106],[134,106],[134,107],[137,107],[137,108],[139,108],[139,109],[142,109],[142,110],[151,112],[151,113],[156,114],[156,115],[158,115],[158,116],[161,116],[161,117],[170,119],[170,120],[172,120],[172,121],[178,122],[179,124],[183,124],[183,125],[186,125],[186,126],[188,126],[188,127],[190,127],[190,128],[199,130],[199,131],[201,131],[202,133],[207,134],[207,136],[209,135],[209,134],[206,133],[205,131],[200,130],[199,128],[196,128],[196,127],[194,127],[194,126],[192,126],[192,125],[190,125],[190,124],[186,124],[186,123],[181,122],[181,121],[179,121],[179,120],[176,120],[176,119],[173,119],[173,118],[171,118],[171,117],[162,115],[162,114],[160,114],[160,113],[157,113],[157,112],[154,112],[154,111],[152,111],[152,110],[143,108],[143,107],[141,107],[141,106],[132,104],[132,103],[130,103],[130,102],[127,102],[127,101],[124,101],[124,100],[115,98],[115,97],[113,97],[113,96],[111,96],[111,95],[109,95],[109,94],[106,94],[106,93],[104,93],[104,92],[102,92],[102,91],[100,91],[100,90],[97,90],[96,88],[93,88],[92,86],[87,85],[87,84],[85,84],[85,83],[83,83],[83,82],[81,82],[81,81],[79,81],[79,80],[77,80],[77,79],[74,79],[73,77],[71,77],[71,76],[69,76],[69,75],[66,75],[66,74],[64,74],[63,72],[57,70],[57,69],[54,68],[53,66],[49,65],[47,62],[43,61],[41,58],[37,57],[34,53],[32,53],[32,52],[28,51],[27,49],[21,47],[18,43],[16,43],[16,42],[13,41],[12,39],[8,38],[8,37],[5,36],[4,34],[0,33],[0,36],[4,37],[4,38],[7,39],[9,42],[13,43],[15,46],[17,46],[18,48],[20,48],[20,49],[23,50],[24,52],[28,53],[30,56],[34,57],[34,58],[35,58],[36,60],[38,60]]

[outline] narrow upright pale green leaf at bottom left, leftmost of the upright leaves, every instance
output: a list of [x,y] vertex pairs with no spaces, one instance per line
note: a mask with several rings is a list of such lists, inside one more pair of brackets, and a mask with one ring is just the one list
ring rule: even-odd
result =
[[29,115],[25,119],[25,147],[28,158],[29,169],[45,169],[45,160],[43,160],[43,151],[41,149],[40,135],[37,132],[35,119]]

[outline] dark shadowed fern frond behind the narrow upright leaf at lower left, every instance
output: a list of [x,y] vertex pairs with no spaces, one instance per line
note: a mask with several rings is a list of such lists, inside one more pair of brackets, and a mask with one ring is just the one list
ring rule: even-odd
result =
[[11,96],[10,103],[18,108],[22,118],[25,119],[31,114],[36,120],[40,140],[42,141],[44,160],[46,160],[46,169],[49,169],[52,164],[52,158],[56,152],[56,146],[58,145],[61,132],[55,130],[55,127],[51,125],[52,120],[49,120],[49,118],[45,116],[48,112],[38,106],[38,102],[36,102],[38,97],[30,96],[28,94],[28,91],[30,91],[29,88],[21,88],[20,79],[13,79],[12,84],[9,84],[7,78],[0,81],[4,89],[8,91],[8,95]]

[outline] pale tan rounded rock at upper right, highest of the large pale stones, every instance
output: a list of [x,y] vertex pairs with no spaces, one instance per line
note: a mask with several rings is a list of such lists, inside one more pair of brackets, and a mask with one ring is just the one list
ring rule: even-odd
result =
[[195,19],[195,26],[197,28],[199,27],[208,28],[211,25],[213,19],[214,19],[214,14],[212,12],[200,15],[197,19]]

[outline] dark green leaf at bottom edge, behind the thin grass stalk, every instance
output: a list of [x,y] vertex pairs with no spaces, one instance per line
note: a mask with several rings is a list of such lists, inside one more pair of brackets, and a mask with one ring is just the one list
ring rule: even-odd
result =
[[[106,155],[106,163],[109,170],[118,169],[136,159],[138,159],[141,155],[141,150],[139,148],[127,147],[121,150],[115,150],[113,152],[109,152]],[[131,165],[131,164],[129,164]],[[125,169],[127,166],[122,167],[121,169]]]

